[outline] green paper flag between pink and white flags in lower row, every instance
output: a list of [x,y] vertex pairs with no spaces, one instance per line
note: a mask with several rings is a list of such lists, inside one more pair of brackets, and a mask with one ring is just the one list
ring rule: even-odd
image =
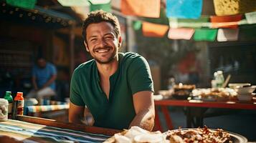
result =
[[194,32],[195,41],[214,41],[217,36],[217,29],[196,29]]

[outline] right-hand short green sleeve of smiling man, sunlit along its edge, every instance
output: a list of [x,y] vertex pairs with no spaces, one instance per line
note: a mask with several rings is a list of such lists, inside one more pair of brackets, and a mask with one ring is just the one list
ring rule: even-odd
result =
[[128,81],[132,94],[142,91],[153,92],[153,80],[148,62],[142,56],[137,56],[128,68]]

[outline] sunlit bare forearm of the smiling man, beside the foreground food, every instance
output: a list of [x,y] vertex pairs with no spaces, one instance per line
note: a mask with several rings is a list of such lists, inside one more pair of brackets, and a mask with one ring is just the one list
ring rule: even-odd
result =
[[133,126],[138,126],[138,127],[141,127],[142,129],[151,131],[153,129],[154,119],[155,119],[154,112],[150,110],[141,111],[138,114],[136,114],[136,117],[134,117],[129,128]]

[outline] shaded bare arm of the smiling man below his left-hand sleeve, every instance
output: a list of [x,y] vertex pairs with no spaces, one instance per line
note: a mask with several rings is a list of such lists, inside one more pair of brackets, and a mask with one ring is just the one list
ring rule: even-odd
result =
[[69,109],[69,122],[76,124],[83,124],[82,120],[84,119],[85,107],[77,106],[70,102]]

